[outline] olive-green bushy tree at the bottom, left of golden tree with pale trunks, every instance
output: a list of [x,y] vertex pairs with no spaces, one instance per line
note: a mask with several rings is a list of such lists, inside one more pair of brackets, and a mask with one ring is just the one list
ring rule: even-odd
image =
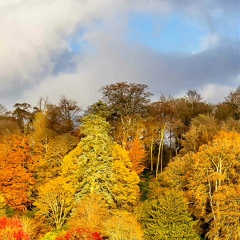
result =
[[181,192],[167,190],[158,199],[144,202],[141,222],[147,239],[199,239]]

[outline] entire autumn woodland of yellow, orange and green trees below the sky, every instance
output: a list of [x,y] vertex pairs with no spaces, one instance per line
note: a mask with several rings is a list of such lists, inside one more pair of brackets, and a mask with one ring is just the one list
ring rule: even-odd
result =
[[0,105],[0,239],[240,239],[240,88],[100,92]]

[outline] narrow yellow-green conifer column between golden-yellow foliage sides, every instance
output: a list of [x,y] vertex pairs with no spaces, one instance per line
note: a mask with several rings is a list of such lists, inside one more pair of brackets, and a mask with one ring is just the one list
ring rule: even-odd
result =
[[94,192],[104,195],[108,203],[114,203],[111,192],[113,182],[113,140],[109,136],[110,125],[97,115],[83,118],[81,133],[85,135],[79,143],[82,154],[78,157],[77,198]]

